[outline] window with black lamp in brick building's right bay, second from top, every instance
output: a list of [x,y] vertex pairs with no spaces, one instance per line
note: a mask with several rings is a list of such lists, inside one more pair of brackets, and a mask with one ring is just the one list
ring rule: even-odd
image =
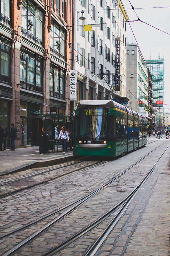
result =
[[50,51],[58,57],[65,59],[65,32],[54,22],[51,24]]

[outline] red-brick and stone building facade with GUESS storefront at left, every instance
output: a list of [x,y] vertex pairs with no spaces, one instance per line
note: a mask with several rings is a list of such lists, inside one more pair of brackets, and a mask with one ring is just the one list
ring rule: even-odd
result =
[[42,114],[70,114],[72,1],[1,1],[0,122],[39,145]]

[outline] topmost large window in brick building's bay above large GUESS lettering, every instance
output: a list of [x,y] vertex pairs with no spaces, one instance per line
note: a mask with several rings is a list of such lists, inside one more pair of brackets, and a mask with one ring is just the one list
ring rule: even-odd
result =
[[[21,33],[27,38],[42,45],[42,12],[31,2],[28,1],[28,3],[26,3],[23,1],[21,6],[21,15],[23,15],[21,17]],[[28,27],[29,20],[31,20],[33,24],[31,30],[29,30],[30,28]]]

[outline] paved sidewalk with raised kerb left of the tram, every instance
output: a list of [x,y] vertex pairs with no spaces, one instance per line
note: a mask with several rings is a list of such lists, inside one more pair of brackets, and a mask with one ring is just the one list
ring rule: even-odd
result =
[[[9,151],[9,149],[0,151],[0,175],[3,173],[12,173],[16,171],[26,170],[39,166],[49,166],[59,161],[62,162],[69,160],[73,155],[73,151],[66,152],[65,155],[62,154],[62,149],[59,152],[52,153],[49,155],[39,154],[39,147],[21,147],[15,149],[15,151]],[[37,165],[36,165],[37,164]]]

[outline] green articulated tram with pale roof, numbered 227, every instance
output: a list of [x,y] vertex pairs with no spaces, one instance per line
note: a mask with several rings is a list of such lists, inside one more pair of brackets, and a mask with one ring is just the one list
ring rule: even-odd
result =
[[75,118],[76,155],[115,157],[147,144],[146,117],[113,100],[81,100]]

